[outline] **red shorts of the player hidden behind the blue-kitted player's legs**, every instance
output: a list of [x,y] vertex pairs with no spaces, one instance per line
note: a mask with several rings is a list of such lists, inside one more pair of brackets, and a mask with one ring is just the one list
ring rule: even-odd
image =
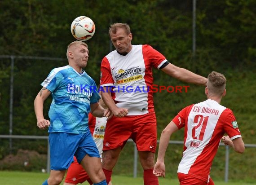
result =
[[89,178],[87,172],[85,172],[82,165],[77,162],[74,156],[74,162],[71,163],[67,170],[65,182],[70,184],[78,184],[83,183],[84,181],[88,181],[90,185],[93,185],[93,182]]

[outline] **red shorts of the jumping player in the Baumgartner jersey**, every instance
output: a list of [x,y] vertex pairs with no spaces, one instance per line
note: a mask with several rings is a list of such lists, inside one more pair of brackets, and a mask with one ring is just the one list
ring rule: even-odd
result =
[[112,117],[106,123],[103,151],[123,148],[131,138],[138,151],[155,152],[157,146],[156,117],[154,112],[145,115]]

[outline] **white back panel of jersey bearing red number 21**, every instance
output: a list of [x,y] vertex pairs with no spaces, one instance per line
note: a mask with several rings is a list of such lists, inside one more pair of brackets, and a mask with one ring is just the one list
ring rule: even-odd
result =
[[211,140],[220,115],[225,109],[226,107],[213,100],[206,100],[192,107],[187,122],[186,150],[183,152],[178,172],[188,174],[190,167]]

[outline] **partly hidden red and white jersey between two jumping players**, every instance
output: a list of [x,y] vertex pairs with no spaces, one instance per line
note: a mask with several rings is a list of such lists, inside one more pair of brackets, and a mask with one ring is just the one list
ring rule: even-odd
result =
[[106,129],[106,117],[96,118],[91,113],[88,115],[88,126],[90,132],[92,133],[93,140],[97,145],[101,159],[102,159],[102,148],[103,148],[103,139]]

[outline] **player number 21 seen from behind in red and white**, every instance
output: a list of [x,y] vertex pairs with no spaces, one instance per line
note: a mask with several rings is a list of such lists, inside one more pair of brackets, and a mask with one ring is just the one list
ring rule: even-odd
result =
[[210,169],[221,139],[236,152],[243,153],[244,143],[235,116],[232,110],[220,105],[226,93],[225,84],[224,75],[210,73],[205,88],[207,100],[185,107],[164,128],[154,166],[156,176],[165,176],[168,142],[172,133],[181,128],[184,128],[184,152],[177,171],[181,185],[214,185]]

